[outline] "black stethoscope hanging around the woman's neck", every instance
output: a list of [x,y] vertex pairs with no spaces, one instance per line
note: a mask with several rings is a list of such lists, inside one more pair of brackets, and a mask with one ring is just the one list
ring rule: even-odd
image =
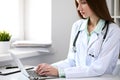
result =
[[[107,32],[108,32],[108,25],[109,25],[109,22],[106,21],[104,27],[102,28],[102,31],[106,28],[105,34],[104,34],[104,36],[103,36],[102,43],[104,42],[104,40],[105,40],[105,38],[106,38],[106,35],[107,35]],[[80,25],[80,26],[81,26],[81,25]],[[75,36],[75,39],[74,39],[74,41],[73,41],[73,52],[74,52],[74,53],[76,53],[76,41],[77,41],[77,39],[78,39],[78,36],[79,36],[80,32],[81,32],[81,31],[78,31],[78,33],[77,33],[77,35]],[[94,54],[89,54],[89,56],[94,57]]]

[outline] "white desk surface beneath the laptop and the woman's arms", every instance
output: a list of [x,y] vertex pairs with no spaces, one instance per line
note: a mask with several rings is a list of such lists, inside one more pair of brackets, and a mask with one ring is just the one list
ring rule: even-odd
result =
[[[29,79],[26,78],[21,72],[19,72],[7,76],[0,76],[0,80],[29,80]],[[104,75],[101,77],[92,77],[92,78],[79,78],[79,79],[56,78],[50,80],[120,80],[120,76]]]

